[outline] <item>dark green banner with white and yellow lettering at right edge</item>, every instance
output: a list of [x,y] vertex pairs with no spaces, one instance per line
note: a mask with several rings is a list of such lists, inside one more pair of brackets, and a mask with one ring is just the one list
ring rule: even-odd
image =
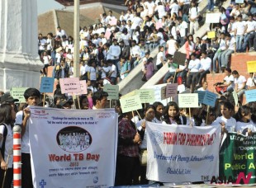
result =
[[256,134],[229,133],[220,148],[220,176],[212,183],[256,183]]

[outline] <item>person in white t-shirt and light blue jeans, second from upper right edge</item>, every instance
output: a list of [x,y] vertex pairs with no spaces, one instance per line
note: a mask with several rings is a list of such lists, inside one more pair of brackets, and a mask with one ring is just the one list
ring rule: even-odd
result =
[[242,51],[242,41],[244,40],[245,22],[242,21],[242,15],[237,16],[237,21],[235,22],[235,43],[236,51]]

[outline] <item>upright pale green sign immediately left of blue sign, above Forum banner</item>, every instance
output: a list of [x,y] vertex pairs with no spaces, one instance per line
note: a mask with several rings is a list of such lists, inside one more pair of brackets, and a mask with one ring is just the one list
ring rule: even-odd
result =
[[198,108],[197,93],[178,94],[178,106],[180,108]]

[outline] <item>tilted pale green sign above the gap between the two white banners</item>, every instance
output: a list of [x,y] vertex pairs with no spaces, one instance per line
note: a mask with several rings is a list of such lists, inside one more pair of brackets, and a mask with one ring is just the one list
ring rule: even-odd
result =
[[140,96],[128,96],[120,99],[121,110],[123,113],[142,109]]

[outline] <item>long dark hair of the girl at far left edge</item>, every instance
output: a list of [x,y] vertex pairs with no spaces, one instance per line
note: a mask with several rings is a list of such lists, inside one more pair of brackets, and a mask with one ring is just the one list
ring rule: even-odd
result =
[[0,125],[13,125],[12,120],[12,106],[10,104],[2,104],[0,107]]

